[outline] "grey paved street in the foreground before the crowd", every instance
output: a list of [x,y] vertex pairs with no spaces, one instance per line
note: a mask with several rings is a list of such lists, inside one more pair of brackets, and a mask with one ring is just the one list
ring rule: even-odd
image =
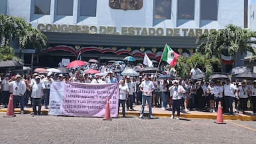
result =
[[127,117],[35,116],[4,118],[0,113],[0,143],[255,143],[255,121],[225,121]]

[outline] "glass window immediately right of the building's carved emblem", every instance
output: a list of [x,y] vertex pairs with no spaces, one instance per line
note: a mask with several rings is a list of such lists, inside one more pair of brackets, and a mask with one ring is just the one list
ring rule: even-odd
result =
[[171,19],[171,0],[155,0],[155,19]]

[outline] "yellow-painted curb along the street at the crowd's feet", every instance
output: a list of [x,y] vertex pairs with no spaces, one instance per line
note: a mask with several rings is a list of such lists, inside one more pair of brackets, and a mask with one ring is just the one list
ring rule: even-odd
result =
[[[7,109],[0,109],[0,113],[6,113]],[[33,113],[32,110],[25,110],[25,113]],[[48,115],[48,111],[41,111],[43,115]],[[20,110],[15,109],[15,113],[20,113]],[[119,115],[122,113],[120,112]],[[133,116],[133,117],[139,117],[139,113],[125,113],[127,116]],[[170,114],[168,113],[153,113],[153,117],[171,117]],[[182,114],[181,113],[181,118],[186,118],[186,119],[216,119],[216,115],[202,115],[202,114]],[[256,121],[256,116],[252,115],[223,115],[223,119],[227,120],[241,120],[241,121]]]

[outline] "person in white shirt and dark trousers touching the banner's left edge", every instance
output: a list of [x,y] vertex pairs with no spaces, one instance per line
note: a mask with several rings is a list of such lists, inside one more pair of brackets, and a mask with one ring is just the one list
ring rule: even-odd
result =
[[51,78],[51,73],[47,73],[47,77],[42,80],[45,85],[45,109],[48,109],[49,98],[50,98],[50,88],[53,83],[53,79]]

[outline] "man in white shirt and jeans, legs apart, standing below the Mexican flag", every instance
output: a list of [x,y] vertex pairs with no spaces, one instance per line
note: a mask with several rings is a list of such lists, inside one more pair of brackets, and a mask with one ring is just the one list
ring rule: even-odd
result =
[[142,105],[141,105],[141,115],[139,115],[139,118],[143,117],[144,108],[146,101],[149,105],[149,118],[153,118],[152,115],[152,92],[155,89],[155,86],[152,81],[149,80],[149,75],[145,75],[144,81],[141,82],[140,89],[142,91]]

